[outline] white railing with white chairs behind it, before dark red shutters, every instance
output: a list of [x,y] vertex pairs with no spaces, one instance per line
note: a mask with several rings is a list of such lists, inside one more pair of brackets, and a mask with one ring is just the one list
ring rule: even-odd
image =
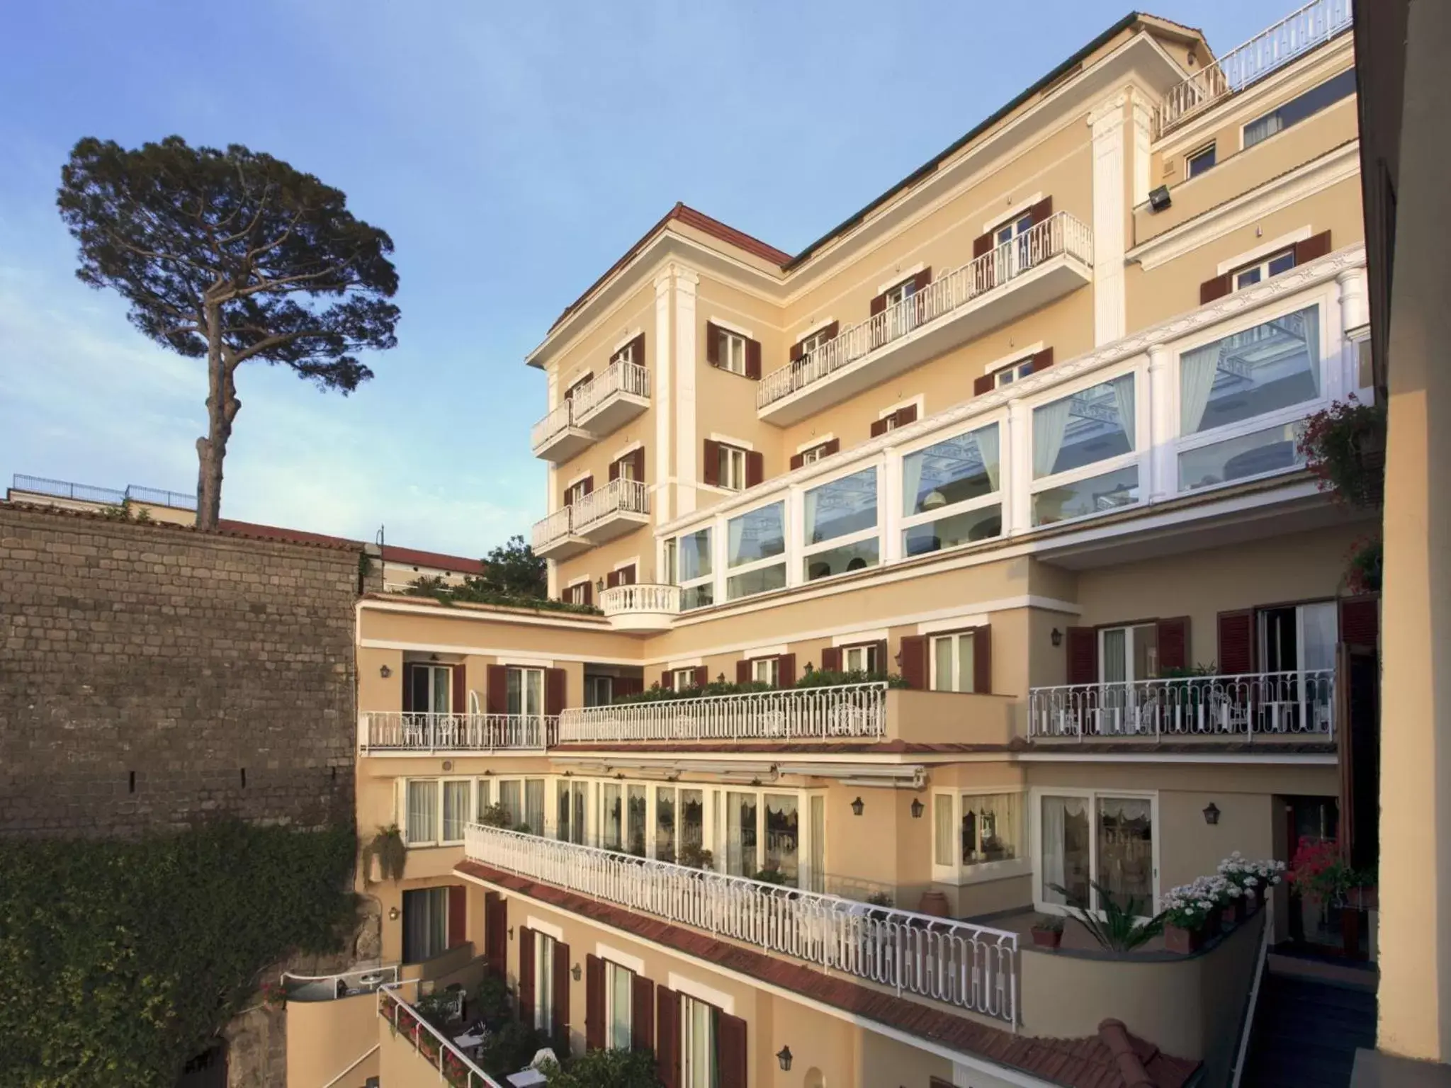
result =
[[1029,737],[1335,735],[1333,669],[1075,683],[1029,695]]

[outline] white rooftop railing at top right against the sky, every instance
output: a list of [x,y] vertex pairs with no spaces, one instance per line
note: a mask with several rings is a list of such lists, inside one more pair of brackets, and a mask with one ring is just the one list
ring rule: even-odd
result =
[[1244,90],[1316,45],[1328,42],[1348,29],[1351,22],[1351,0],[1310,0],[1268,30],[1261,30],[1172,87],[1155,110],[1156,135],[1162,136],[1226,94]]

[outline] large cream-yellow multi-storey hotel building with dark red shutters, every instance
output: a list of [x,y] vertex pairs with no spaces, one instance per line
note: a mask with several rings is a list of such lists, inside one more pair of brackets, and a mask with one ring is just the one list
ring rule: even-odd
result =
[[485,1082],[412,1010],[492,973],[672,1088],[1223,1085],[1268,944],[1373,957],[1283,892],[1193,952],[1030,936],[1374,862],[1376,524],[1297,450],[1374,399],[1349,29],[1130,16],[804,252],[678,205],[573,302],[533,544],[598,614],[360,602],[406,869],[290,1079]]

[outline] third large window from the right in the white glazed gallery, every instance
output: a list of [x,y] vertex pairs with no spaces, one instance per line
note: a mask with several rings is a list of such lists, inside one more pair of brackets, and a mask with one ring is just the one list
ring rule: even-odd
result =
[[1000,535],[1000,480],[997,424],[903,457],[903,554]]

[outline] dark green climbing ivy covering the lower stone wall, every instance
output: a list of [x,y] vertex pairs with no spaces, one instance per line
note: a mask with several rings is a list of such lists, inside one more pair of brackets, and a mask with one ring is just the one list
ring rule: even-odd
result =
[[28,1088],[170,1088],[292,950],[351,930],[351,827],[218,821],[0,841],[0,1069]]

